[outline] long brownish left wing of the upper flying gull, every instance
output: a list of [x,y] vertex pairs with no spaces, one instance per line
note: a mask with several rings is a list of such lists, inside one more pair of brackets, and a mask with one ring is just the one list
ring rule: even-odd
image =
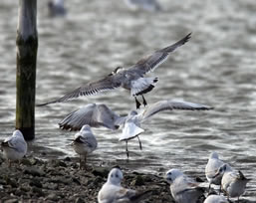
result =
[[42,106],[42,105],[55,103],[55,102],[66,102],[71,99],[76,99],[82,96],[93,96],[102,92],[112,91],[114,89],[121,87],[122,81],[123,81],[122,79],[123,79],[123,75],[121,74],[110,75],[99,81],[88,83],[76,89],[75,91],[72,91],[71,93],[67,94],[66,96],[60,99],[57,99],[52,102],[37,104],[37,106]]

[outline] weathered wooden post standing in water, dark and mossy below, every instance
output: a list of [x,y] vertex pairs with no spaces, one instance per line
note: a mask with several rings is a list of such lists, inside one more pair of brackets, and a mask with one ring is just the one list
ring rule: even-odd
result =
[[35,137],[37,0],[19,0],[18,15],[16,128],[31,140]]

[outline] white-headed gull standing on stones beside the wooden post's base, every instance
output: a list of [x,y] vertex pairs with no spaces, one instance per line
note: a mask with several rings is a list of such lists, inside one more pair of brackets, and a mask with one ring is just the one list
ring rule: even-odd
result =
[[7,137],[2,143],[1,147],[4,156],[8,159],[9,166],[11,161],[20,160],[27,153],[27,142],[25,141],[22,132],[16,129],[12,136]]

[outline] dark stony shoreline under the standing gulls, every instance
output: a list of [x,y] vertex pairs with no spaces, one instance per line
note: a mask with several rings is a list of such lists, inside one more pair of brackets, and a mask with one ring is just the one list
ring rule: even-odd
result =
[[[95,164],[89,159],[85,170],[80,169],[79,157],[63,155],[50,148],[30,148],[20,163],[8,167],[0,153],[0,202],[97,202],[98,192],[115,165],[101,166],[101,163]],[[56,156],[63,158],[56,159]],[[150,174],[139,173],[126,166],[121,168],[124,187],[153,191],[144,203],[174,203],[169,185],[163,178],[165,171]],[[203,174],[188,175],[205,179]],[[251,203],[243,197],[240,199],[242,203]]]

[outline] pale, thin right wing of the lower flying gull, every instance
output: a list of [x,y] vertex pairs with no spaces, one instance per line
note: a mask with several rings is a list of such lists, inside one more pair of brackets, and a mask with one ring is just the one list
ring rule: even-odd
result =
[[209,110],[213,107],[194,102],[183,101],[160,101],[148,105],[142,112],[140,119],[144,120],[162,110],[183,109],[183,110]]

